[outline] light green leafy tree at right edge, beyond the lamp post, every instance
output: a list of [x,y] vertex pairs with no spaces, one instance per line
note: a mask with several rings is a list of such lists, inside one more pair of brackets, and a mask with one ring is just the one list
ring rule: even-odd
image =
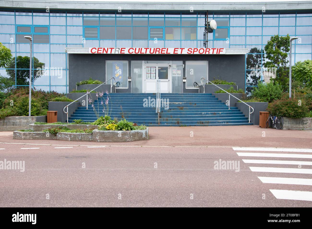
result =
[[312,88],[312,60],[298,61],[292,68],[292,79]]

